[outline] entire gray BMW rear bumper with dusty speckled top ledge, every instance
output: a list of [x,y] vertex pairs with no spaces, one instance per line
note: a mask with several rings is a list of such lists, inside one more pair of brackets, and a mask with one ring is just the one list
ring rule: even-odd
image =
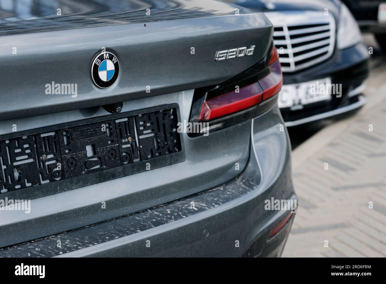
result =
[[286,131],[280,131],[282,124],[277,106],[253,120],[247,166],[225,184],[151,209],[2,248],[0,257],[280,256],[294,216],[268,240],[272,228],[289,211],[266,210],[265,201],[296,199],[290,144]]

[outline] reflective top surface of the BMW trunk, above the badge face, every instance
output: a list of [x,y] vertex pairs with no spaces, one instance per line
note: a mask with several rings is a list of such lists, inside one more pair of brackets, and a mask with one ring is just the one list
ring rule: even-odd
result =
[[210,0],[13,1],[0,5],[0,35],[212,17],[233,12],[233,5]]

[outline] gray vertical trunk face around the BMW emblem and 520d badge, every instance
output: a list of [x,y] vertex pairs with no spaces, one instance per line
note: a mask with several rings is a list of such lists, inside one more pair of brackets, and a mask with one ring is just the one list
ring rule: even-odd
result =
[[[1,36],[0,120],[215,85],[261,60],[271,33],[267,18],[251,13]],[[216,51],[251,45],[251,56],[214,60]],[[107,89],[90,76],[102,47],[120,63],[119,77]],[[77,97],[47,95],[51,82],[77,84]]]

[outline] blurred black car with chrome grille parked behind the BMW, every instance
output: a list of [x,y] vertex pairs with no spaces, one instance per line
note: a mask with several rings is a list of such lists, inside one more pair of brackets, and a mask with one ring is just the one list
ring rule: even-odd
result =
[[366,103],[369,52],[339,0],[234,0],[274,26],[283,70],[278,105],[286,126],[354,111]]

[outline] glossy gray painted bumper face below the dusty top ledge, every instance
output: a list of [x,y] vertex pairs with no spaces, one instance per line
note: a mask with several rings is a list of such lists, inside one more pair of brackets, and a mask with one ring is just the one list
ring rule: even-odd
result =
[[[250,192],[193,216],[61,256],[239,257],[256,240],[262,255],[280,256],[278,248],[283,248],[287,235],[266,240],[286,211],[266,211],[264,200],[296,199],[296,195],[291,180],[290,143],[287,132],[279,131],[283,124],[279,113],[275,106],[254,119],[254,147],[243,179],[256,179],[259,169],[261,182]],[[203,235],[205,229],[209,231],[207,238]],[[146,247],[146,240],[151,240],[152,249]],[[239,248],[235,240],[240,241]]]

